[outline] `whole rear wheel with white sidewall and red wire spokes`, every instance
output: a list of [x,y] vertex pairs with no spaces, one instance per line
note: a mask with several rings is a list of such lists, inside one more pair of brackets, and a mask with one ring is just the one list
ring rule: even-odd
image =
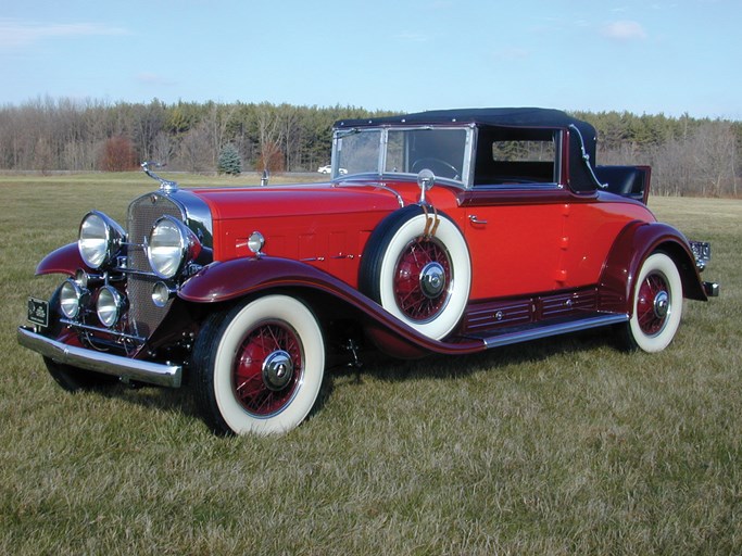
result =
[[650,255],[633,287],[633,312],[625,328],[629,349],[659,352],[672,341],[682,314],[682,282],[665,253]]

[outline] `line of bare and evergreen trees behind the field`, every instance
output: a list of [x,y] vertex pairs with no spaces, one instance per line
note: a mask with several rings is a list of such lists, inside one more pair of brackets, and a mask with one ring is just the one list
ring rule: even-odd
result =
[[[110,103],[39,98],[0,106],[0,169],[125,170],[152,160],[173,170],[229,167],[312,172],[329,163],[330,129],[342,118],[392,112],[354,106],[177,102]],[[595,126],[599,164],[652,166],[655,194],[739,197],[742,123],[574,112]],[[222,166],[223,167],[223,166]]]

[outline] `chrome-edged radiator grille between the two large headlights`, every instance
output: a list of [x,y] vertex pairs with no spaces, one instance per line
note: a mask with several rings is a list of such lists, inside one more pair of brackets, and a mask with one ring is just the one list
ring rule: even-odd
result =
[[154,276],[142,276],[140,273],[151,273],[143,244],[154,222],[161,216],[169,215],[184,219],[184,213],[178,204],[165,195],[151,193],[136,199],[129,205],[127,230],[129,240],[128,267],[135,270],[128,275],[127,295],[129,300],[129,325],[135,328],[137,336],[148,338],[162,323],[171,308],[172,301],[164,307],[158,307],[152,302],[152,287],[159,280]]

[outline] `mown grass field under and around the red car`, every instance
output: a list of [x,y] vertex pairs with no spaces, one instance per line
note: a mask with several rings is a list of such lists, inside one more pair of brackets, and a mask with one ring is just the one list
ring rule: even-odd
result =
[[153,185],[0,176],[0,554],[742,553],[741,201],[651,199],[722,285],[663,353],[591,332],[379,359],[293,432],[225,439],[186,390],[67,394],[15,343],[59,281],[38,261]]

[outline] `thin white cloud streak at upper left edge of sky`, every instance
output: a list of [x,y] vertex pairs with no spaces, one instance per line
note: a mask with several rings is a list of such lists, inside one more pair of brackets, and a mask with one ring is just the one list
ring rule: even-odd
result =
[[0,49],[21,49],[48,39],[128,35],[100,23],[36,23],[0,18]]

